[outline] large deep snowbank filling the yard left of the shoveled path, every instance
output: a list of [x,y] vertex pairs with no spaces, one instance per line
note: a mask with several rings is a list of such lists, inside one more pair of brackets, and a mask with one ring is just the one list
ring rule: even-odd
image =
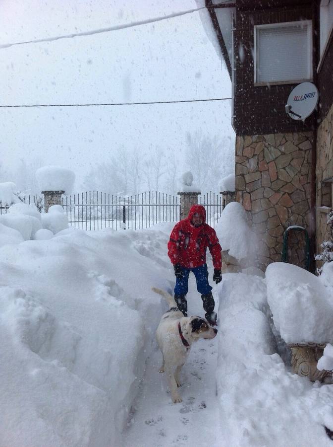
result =
[[[1,446],[118,446],[167,288],[159,229],[50,240],[0,253]],[[10,232],[11,231],[11,232]]]

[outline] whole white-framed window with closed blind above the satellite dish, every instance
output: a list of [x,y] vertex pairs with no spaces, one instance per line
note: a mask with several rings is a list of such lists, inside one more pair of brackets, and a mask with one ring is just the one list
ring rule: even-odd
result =
[[255,84],[304,80],[312,80],[312,21],[255,25]]

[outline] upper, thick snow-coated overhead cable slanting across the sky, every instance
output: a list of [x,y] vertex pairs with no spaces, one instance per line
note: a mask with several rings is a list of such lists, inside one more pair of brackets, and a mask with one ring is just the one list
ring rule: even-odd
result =
[[72,38],[72,37],[92,36],[94,34],[109,33],[111,31],[132,28],[134,26],[139,26],[139,25],[147,25],[149,23],[160,22],[162,20],[167,20],[167,19],[173,18],[173,17],[179,17],[179,16],[185,15],[185,14],[191,14],[192,12],[200,11],[201,9],[205,9],[205,6],[203,6],[201,8],[189,9],[187,11],[181,11],[181,12],[176,12],[173,14],[168,14],[163,17],[155,17],[152,19],[139,20],[137,22],[125,23],[122,25],[114,25],[114,26],[110,26],[108,28],[95,29],[92,31],[82,31],[79,33],[64,34],[62,36],[56,36],[56,37],[46,37],[44,39],[36,39],[36,40],[28,40],[28,41],[24,41],[24,42],[14,42],[14,43],[3,44],[3,45],[0,45],[0,49],[13,47],[15,45],[24,45],[24,44],[28,44],[28,43],[54,42],[55,40],[59,40],[59,39],[68,39],[68,38]]

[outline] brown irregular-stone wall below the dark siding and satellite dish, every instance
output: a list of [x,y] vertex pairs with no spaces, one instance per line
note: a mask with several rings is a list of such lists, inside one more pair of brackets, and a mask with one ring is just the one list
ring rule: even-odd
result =
[[[236,201],[263,241],[258,256],[263,270],[281,261],[289,225],[310,232],[312,143],[313,132],[236,137]],[[302,265],[304,252],[297,243],[294,248],[290,262]]]

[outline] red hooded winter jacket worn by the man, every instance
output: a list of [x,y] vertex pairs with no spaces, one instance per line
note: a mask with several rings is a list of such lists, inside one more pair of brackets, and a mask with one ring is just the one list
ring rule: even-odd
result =
[[[198,227],[192,224],[192,217],[198,213],[204,223]],[[207,247],[213,258],[213,265],[221,269],[221,245],[215,229],[206,224],[206,210],[202,205],[193,205],[188,217],[175,224],[167,243],[168,256],[172,264],[195,268],[206,263]]]

